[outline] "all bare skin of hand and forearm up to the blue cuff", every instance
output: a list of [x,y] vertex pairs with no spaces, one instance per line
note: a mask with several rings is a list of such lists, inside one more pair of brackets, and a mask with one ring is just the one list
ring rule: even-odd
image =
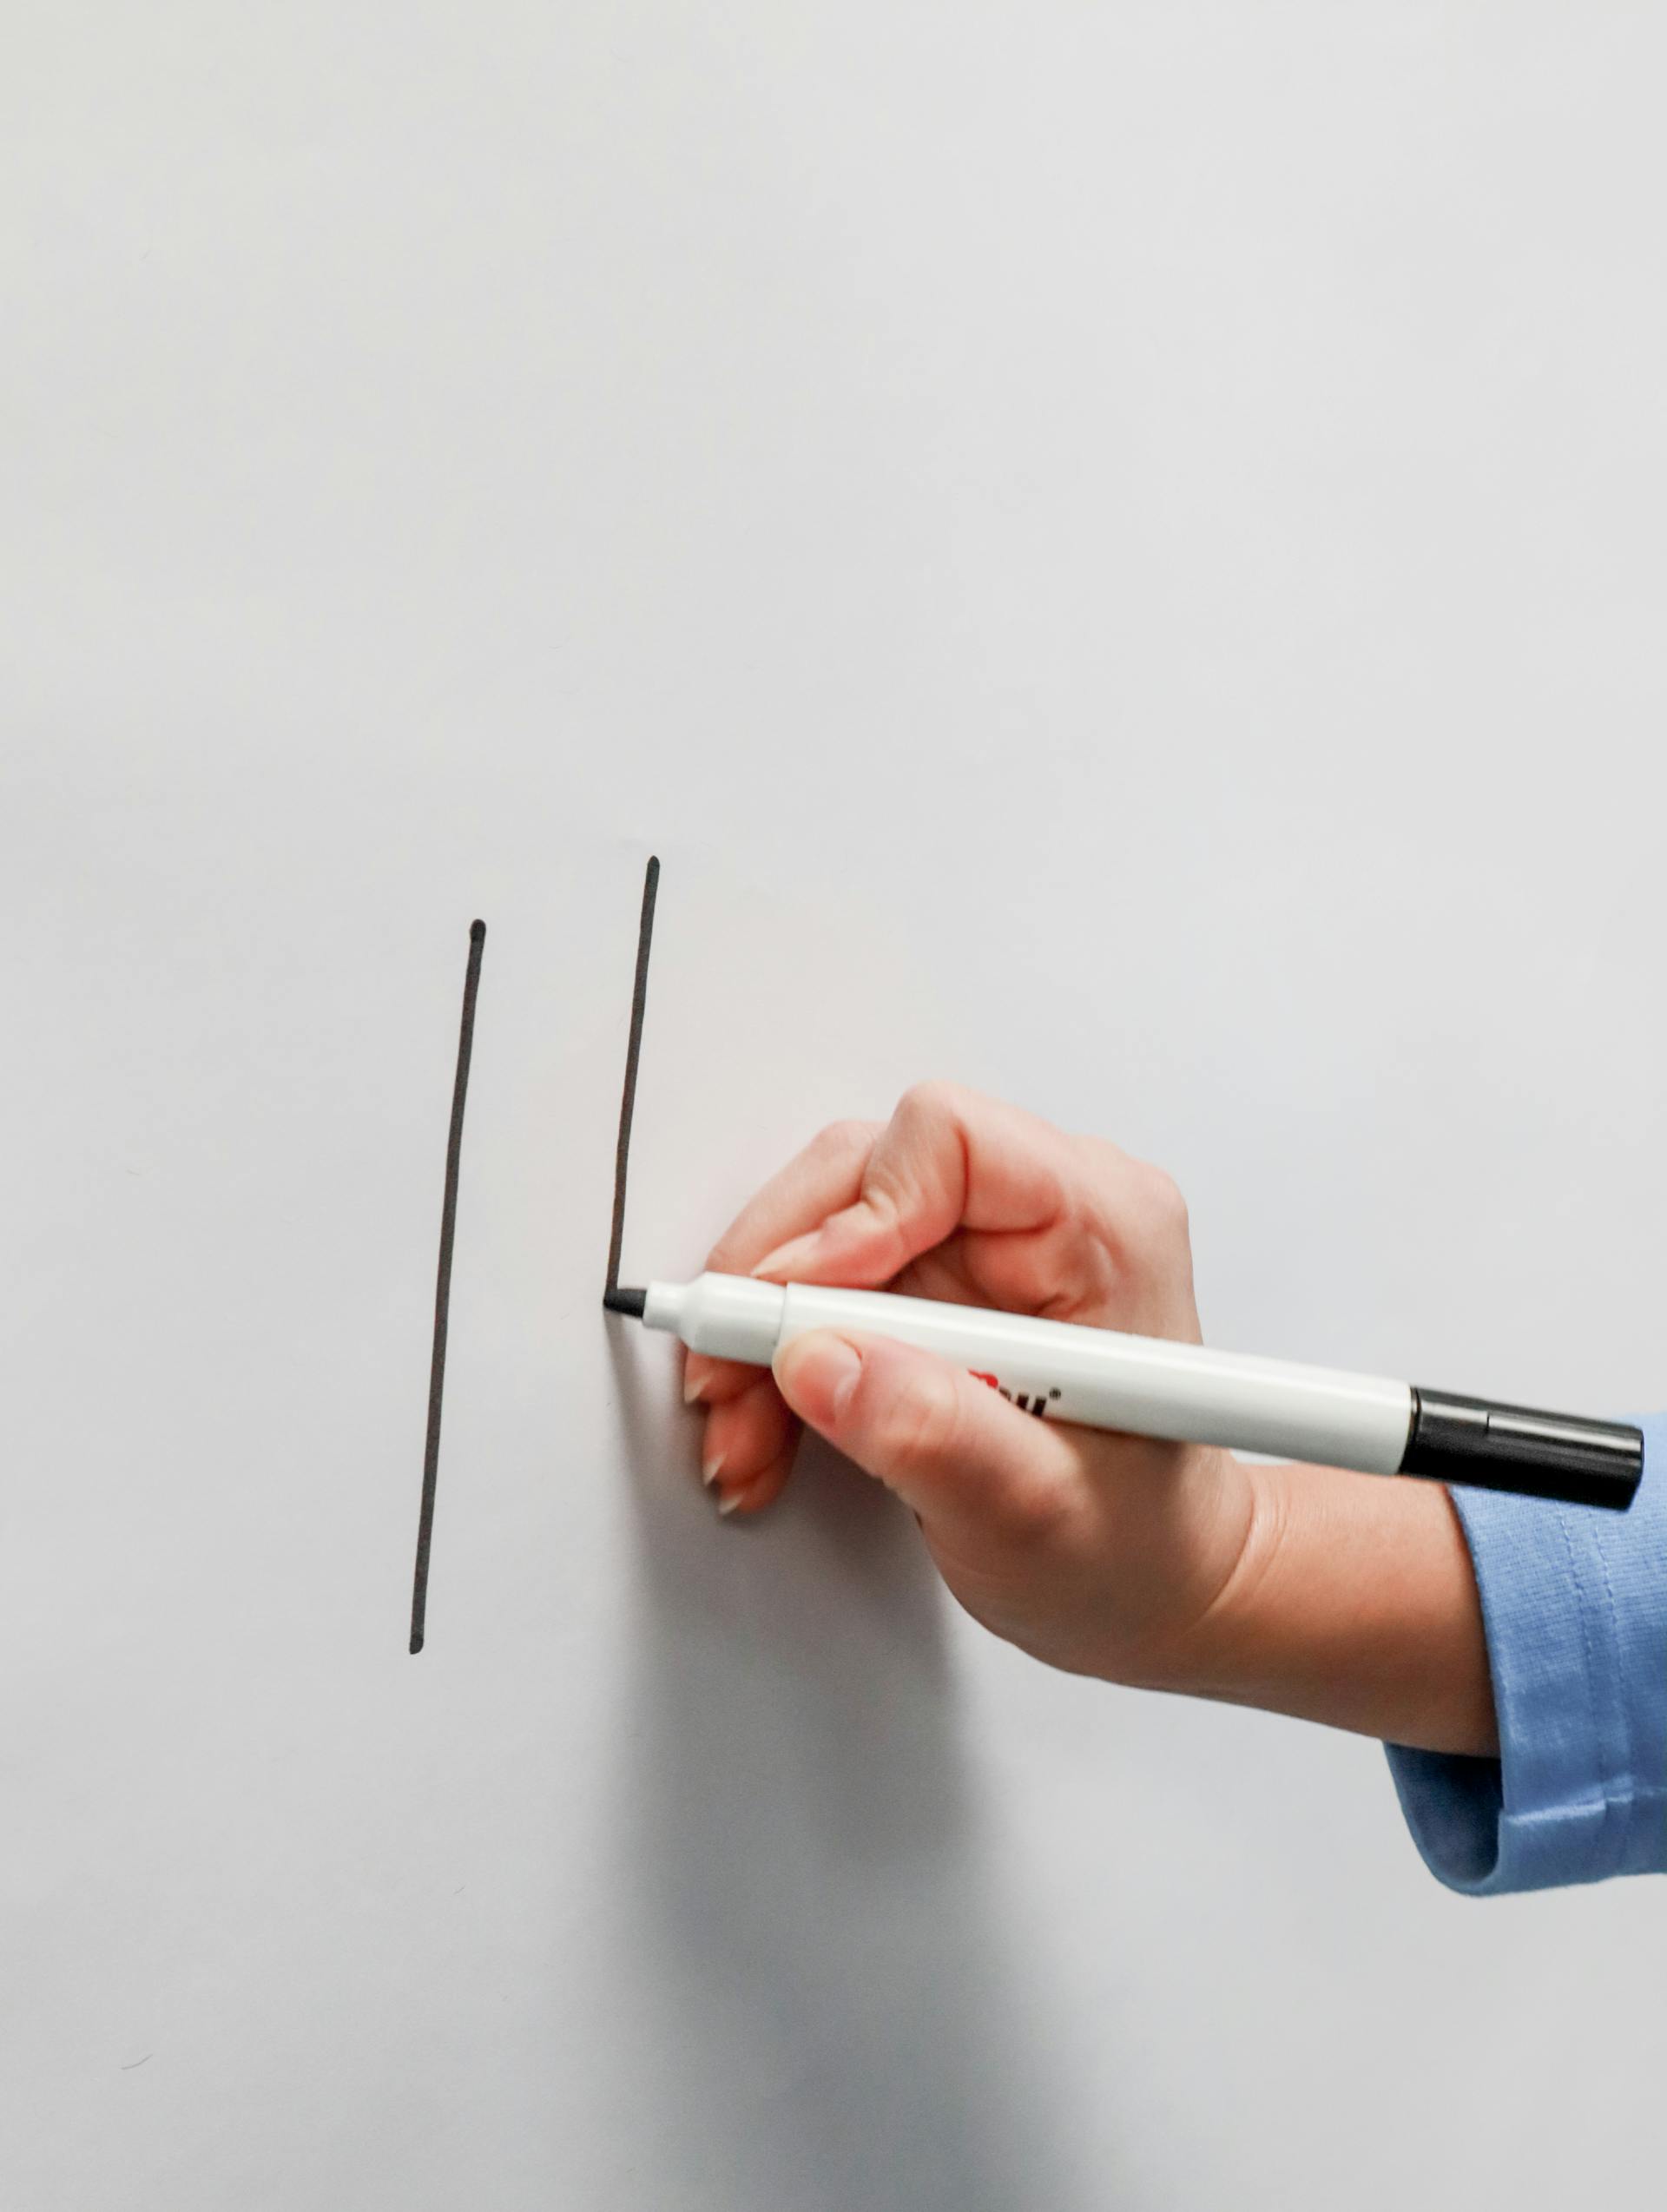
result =
[[[953,1084],[825,1128],[707,1267],[1203,1340],[1174,1181]],[[800,1336],[774,1369],[688,1354],[685,1396],[725,1517],[780,1495],[807,1422],[913,1511],[955,1599],[1048,1666],[1497,1752],[1470,1555],[1437,1484],[1039,1422],[858,1332]]]

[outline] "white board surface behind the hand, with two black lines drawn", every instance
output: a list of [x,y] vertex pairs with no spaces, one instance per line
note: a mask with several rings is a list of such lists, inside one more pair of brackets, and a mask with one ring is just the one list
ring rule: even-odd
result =
[[953,1075],[1176,1172],[1214,1343],[1663,1405],[1660,44],[20,18],[9,2203],[1658,2172],[1654,1885],[1448,1896],[827,1453],[719,1522],[599,1290],[657,849],[628,1276]]

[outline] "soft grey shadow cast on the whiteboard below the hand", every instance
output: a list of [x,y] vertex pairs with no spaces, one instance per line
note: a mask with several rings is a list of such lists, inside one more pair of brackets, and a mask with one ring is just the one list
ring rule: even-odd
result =
[[811,1444],[780,1506],[692,1540],[665,1371],[610,1354],[641,1553],[615,1955],[648,2170],[776,2212],[1066,2201],[1050,2115],[1013,2093],[1035,2015],[909,1515]]

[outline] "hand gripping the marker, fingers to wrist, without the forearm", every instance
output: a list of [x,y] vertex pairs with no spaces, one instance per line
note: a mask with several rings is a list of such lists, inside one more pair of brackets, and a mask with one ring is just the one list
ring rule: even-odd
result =
[[[1198,1343],[1174,1181],[1101,1137],[922,1084],[776,1175],[707,1267],[887,1287]],[[719,1506],[769,1504],[807,1420],[915,1513],[966,1610],[1052,1666],[1167,1681],[1234,1579],[1251,1471],[1225,1451],[1044,1425],[929,1352],[818,1329],[774,1374],[688,1356]]]

